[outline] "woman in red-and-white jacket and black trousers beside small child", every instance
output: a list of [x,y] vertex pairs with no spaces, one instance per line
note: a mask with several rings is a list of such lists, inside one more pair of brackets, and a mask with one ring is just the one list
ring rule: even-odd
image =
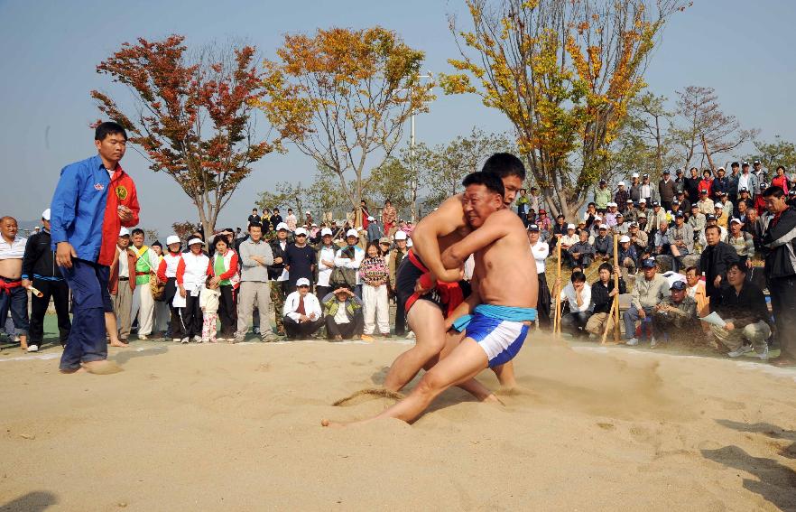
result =
[[[221,234],[213,238],[213,247],[216,252],[208,263],[208,275],[213,286],[218,285],[221,293],[218,304],[218,319],[221,321],[220,341],[235,340],[237,308],[235,301],[235,291],[240,283],[240,275],[237,273],[238,256],[232,247],[229,247],[229,239]],[[267,325],[267,324],[266,324]]]

